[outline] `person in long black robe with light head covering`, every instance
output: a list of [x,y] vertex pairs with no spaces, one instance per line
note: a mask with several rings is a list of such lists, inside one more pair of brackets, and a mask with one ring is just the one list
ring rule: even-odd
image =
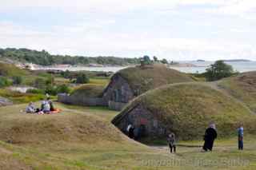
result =
[[204,151],[212,151],[214,146],[214,140],[217,138],[217,132],[215,124],[210,124],[209,128],[206,128],[206,132],[204,135],[205,143],[203,144],[202,149]]

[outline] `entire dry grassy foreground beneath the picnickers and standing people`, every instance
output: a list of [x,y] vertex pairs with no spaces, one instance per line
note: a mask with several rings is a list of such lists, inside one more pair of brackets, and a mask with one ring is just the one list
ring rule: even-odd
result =
[[[255,136],[219,139],[213,152],[202,141],[179,141],[177,154],[123,136],[110,125],[118,114],[101,107],[60,105],[58,115],[23,114],[26,105],[0,108],[0,169],[255,169]],[[32,128],[33,127],[33,128]],[[246,133],[246,129],[245,129]],[[8,136],[8,137],[6,137]]]

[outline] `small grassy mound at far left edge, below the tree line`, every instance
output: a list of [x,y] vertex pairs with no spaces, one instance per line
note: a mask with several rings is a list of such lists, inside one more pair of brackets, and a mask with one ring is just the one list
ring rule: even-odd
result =
[[15,65],[0,62],[0,76],[13,77],[27,75],[28,72],[24,69],[19,69]]

